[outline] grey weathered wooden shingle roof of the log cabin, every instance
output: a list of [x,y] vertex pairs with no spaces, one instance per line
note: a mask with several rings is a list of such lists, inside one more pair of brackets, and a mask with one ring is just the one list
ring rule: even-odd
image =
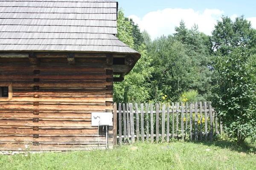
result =
[[138,54],[117,34],[114,0],[0,0],[0,51]]

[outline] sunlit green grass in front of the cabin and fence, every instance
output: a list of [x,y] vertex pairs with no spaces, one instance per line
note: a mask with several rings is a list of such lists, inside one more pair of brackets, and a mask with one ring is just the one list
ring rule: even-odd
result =
[[253,170],[256,169],[256,154],[248,149],[246,145],[236,146],[230,142],[137,143],[113,150],[1,155],[0,169]]

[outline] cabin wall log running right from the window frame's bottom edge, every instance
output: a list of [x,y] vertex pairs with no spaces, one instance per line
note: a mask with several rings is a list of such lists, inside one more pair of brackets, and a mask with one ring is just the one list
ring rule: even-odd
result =
[[[112,100],[111,98],[108,98],[108,100]],[[39,98],[33,98],[33,97],[13,97],[10,102],[49,102],[49,103],[60,103],[60,102],[66,102],[66,103],[96,103],[96,104],[104,104],[106,101],[105,97],[84,97],[84,98],[62,98],[62,97],[40,97]],[[0,102],[5,102],[4,100],[1,100]]]

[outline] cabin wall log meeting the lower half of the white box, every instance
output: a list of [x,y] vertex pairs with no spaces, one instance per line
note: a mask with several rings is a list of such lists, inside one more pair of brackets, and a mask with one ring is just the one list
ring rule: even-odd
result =
[[68,122],[68,121],[39,121],[29,120],[0,120],[0,126],[26,126],[26,127],[91,127],[91,122]]

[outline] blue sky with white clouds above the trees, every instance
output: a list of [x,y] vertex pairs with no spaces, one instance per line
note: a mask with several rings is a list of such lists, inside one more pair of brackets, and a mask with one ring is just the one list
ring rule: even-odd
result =
[[216,20],[222,15],[231,18],[244,15],[256,28],[256,1],[253,0],[117,0],[126,17],[131,17],[141,29],[154,39],[173,34],[174,27],[183,19],[190,28],[194,23],[199,30],[211,34]]

